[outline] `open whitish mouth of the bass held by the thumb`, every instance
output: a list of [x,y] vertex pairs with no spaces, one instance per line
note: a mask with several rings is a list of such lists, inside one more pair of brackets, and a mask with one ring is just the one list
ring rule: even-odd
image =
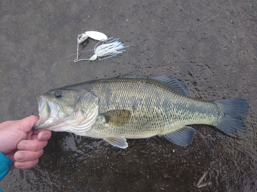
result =
[[52,122],[57,121],[61,107],[58,103],[49,101],[44,95],[39,95],[36,99],[38,100],[40,119],[34,124],[33,129],[42,131],[47,129]]

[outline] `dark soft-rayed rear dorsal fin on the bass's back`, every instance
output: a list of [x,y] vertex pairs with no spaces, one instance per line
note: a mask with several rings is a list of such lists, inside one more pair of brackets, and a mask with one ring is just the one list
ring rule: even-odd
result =
[[187,96],[190,95],[188,88],[186,86],[186,83],[181,80],[178,80],[176,77],[163,74],[163,75],[158,75],[150,78],[167,84],[167,86],[169,86],[170,88],[174,89],[176,92],[182,95],[187,95]]

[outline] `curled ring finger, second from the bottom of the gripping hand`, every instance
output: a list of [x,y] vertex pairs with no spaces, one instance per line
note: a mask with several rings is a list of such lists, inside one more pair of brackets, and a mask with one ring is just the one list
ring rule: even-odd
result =
[[43,150],[36,152],[32,151],[17,151],[13,158],[15,161],[34,161],[43,155]]

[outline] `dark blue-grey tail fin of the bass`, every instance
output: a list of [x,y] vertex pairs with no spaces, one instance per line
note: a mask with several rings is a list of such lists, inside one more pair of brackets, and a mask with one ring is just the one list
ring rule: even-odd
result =
[[236,131],[246,131],[244,118],[248,114],[249,102],[244,98],[230,98],[215,100],[219,107],[220,120],[214,126],[222,132],[230,135]]

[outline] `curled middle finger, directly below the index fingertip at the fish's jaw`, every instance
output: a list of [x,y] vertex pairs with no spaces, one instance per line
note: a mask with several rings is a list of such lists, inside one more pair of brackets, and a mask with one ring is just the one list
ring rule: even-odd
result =
[[22,140],[17,144],[18,150],[27,150],[27,151],[39,151],[47,145],[46,141],[39,141],[38,139],[33,140]]

